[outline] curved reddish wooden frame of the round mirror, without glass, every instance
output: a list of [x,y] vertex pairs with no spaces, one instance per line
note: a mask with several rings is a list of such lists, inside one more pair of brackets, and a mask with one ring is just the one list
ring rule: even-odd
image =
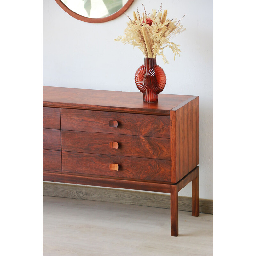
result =
[[107,16],[107,17],[103,17],[103,18],[88,18],[88,17],[84,17],[80,14],[77,14],[76,12],[73,12],[72,10],[70,10],[65,4],[62,3],[61,0],[55,0],[57,2],[57,4],[60,5],[60,7],[67,12],[70,16],[76,18],[77,20],[81,20],[84,22],[90,22],[90,23],[102,23],[102,22],[106,22],[109,20],[114,20],[117,17],[119,17],[121,14],[123,14],[133,3],[134,0],[128,0],[126,4],[124,4],[124,6],[117,12]]

